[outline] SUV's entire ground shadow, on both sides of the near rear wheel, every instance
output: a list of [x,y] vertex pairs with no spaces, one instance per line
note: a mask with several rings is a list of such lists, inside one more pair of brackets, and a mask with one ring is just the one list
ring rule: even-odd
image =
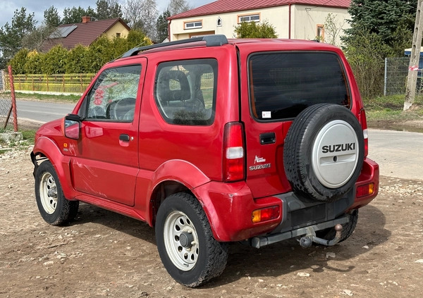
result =
[[[154,228],[147,223],[97,206],[81,203],[78,216],[71,225],[85,223],[104,225],[156,245]],[[328,270],[348,273],[353,271],[355,266],[346,266],[343,263],[334,266],[333,261],[353,259],[386,242],[391,236],[391,232],[385,229],[385,224],[384,213],[375,206],[366,206],[360,209],[357,228],[353,235],[345,242],[333,247],[313,245],[308,249],[303,249],[295,239],[271,244],[260,249],[233,242],[230,244],[228,263],[223,274],[201,288],[219,287],[246,276],[250,278],[281,277],[309,268],[317,274]],[[326,256],[328,252],[335,253],[336,258],[328,258]],[[329,261],[331,265],[329,265]]]

